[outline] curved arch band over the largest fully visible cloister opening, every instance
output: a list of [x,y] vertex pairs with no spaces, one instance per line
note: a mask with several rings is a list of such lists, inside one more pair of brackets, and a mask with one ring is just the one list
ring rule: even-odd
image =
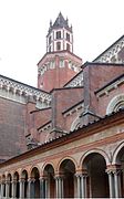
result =
[[81,157],[80,168],[82,168],[82,165],[83,165],[83,163],[84,163],[84,159],[85,159],[89,155],[92,155],[92,154],[100,154],[100,155],[103,156],[103,158],[105,159],[106,165],[110,165],[111,159],[110,159],[110,157],[107,156],[107,154],[106,154],[104,150],[102,150],[102,149],[94,148],[94,149],[92,149],[92,150],[87,150],[87,151]]

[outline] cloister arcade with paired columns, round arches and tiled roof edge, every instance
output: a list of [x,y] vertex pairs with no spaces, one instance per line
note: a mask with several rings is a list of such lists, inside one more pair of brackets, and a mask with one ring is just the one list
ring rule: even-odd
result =
[[1,198],[124,197],[123,112],[2,163]]

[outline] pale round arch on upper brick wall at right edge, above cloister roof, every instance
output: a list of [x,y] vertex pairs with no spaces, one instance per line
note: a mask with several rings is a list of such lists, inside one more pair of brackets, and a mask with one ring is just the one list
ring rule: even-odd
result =
[[121,107],[124,107],[124,94],[114,96],[107,105],[106,114],[118,111]]

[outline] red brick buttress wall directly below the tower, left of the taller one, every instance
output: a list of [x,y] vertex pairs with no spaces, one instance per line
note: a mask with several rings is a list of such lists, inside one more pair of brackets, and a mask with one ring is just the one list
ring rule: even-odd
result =
[[60,129],[69,130],[71,124],[66,123],[66,118],[63,117],[62,112],[83,100],[83,88],[54,90],[52,97],[53,127],[58,126]]

